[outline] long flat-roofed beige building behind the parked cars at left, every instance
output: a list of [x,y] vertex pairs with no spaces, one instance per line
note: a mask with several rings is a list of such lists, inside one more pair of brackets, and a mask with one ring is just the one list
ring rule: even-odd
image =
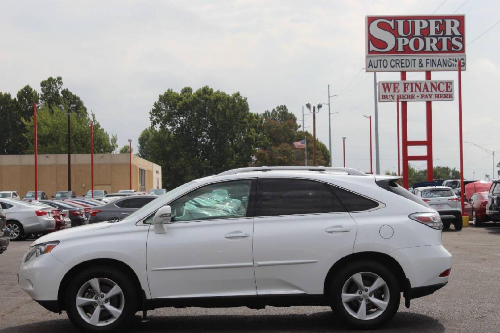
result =
[[[94,189],[108,193],[129,188],[129,155],[94,153]],[[132,189],[161,188],[161,166],[132,155]],[[83,195],[90,189],[90,154],[71,154],[71,190]],[[0,155],[0,190],[19,195],[34,190],[34,156]],[[67,190],[67,155],[38,155],[38,190],[50,197]]]

